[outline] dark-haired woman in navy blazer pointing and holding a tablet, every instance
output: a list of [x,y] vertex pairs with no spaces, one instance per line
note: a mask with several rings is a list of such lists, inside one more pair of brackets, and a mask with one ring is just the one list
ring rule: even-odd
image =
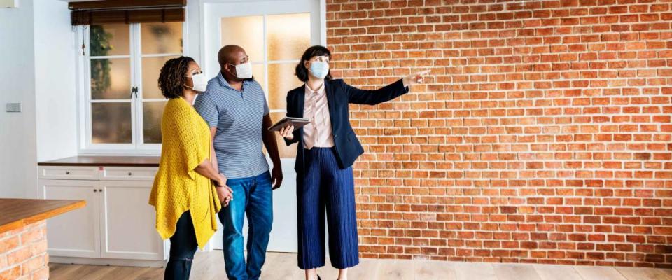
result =
[[[325,208],[332,266],[339,280],[359,263],[352,165],[364,153],[349,120],[349,104],[376,105],[408,92],[429,71],[415,73],[378,90],[360,90],[334,80],[329,71],[330,51],[308,48],[296,66],[305,84],[287,94],[287,116],[311,123],[279,133],[286,144],[298,143],[296,154],[298,265],[307,280],[320,279],[316,268],[325,262]],[[304,113],[309,116],[304,116]]]

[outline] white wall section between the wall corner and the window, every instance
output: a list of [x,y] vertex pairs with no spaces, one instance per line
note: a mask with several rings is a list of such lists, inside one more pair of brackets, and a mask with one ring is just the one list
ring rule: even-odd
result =
[[[65,1],[34,7],[37,160],[77,154],[75,32]],[[80,39],[81,42],[81,39]]]

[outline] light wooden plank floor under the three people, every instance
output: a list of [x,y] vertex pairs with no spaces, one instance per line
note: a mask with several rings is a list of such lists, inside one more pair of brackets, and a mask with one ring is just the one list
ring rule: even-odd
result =
[[[329,264],[329,262],[327,261]],[[324,280],[336,279],[329,265],[318,270]],[[50,264],[50,279],[162,279],[162,268],[105,267]],[[303,279],[292,253],[268,253],[262,280]],[[221,251],[197,253],[193,280],[226,279]],[[474,262],[361,259],[350,270],[352,280],[672,280],[672,269],[633,267],[582,267],[568,265],[517,265]]]

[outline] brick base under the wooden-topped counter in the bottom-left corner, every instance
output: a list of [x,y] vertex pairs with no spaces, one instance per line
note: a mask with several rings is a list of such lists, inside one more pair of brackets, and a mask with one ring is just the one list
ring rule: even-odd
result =
[[46,223],[0,233],[0,280],[49,278]]

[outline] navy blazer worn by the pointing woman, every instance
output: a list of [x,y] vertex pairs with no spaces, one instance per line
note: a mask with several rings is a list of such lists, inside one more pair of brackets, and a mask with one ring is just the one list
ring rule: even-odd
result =
[[[351,167],[359,155],[364,153],[362,144],[359,143],[359,139],[357,139],[350,126],[349,104],[380,104],[407,93],[408,87],[404,87],[402,80],[378,90],[360,90],[346,84],[343,80],[325,80],[324,86],[329,106],[336,160],[339,167],[345,169]],[[305,85],[302,85],[287,93],[288,117],[303,118],[305,92]],[[294,169],[296,169],[297,174],[303,174],[303,128],[294,130],[293,134],[294,138],[292,140],[284,139],[287,145],[298,142]]]

